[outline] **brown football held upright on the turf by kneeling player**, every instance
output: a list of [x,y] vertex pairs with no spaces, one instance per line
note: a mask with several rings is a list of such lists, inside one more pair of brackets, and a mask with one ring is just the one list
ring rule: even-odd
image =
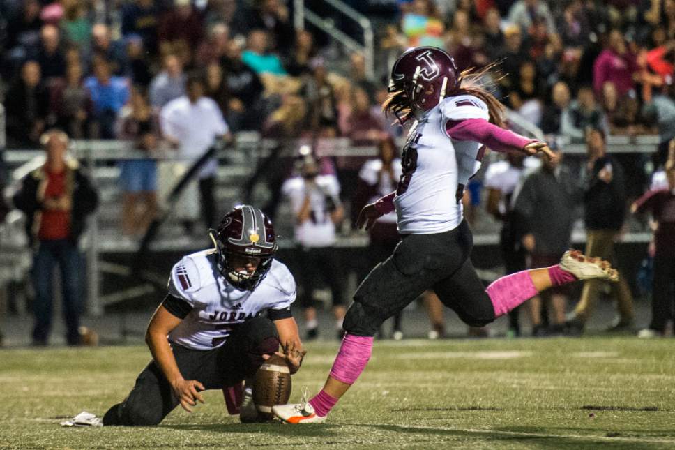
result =
[[272,407],[288,403],[291,396],[291,371],[282,357],[273,355],[255,373],[253,403],[261,417],[272,419]]

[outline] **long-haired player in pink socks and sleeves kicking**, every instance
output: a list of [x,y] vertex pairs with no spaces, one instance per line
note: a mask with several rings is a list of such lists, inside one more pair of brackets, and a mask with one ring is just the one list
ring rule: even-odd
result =
[[365,369],[380,324],[427,289],[469,326],[484,327],[547,287],[618,279],[609,263],[568,251],[555,266],[513,273],[483,287],[469,259],[473,238],[460,201],[480,168],[483,148],[555,156],[545,142],[501,128],[504,107],[480,86],[481,75],[458,73],[453,58],[435,47],[408,50],[394,63],[383,109],[402,123],[412,122],[402,175],[395,192],[361,210],[357,226],[369,229],[395,210],[402,241],[356,290],[324,389],[309,401],[273,407],[282,421],[324,422]]

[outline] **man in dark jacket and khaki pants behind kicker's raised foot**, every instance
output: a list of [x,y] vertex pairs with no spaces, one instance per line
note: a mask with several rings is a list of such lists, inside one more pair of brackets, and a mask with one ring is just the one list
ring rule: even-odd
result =
[[[605,133],[591,129],[586,135],[589,155],[589,182],[584,193],[584,221],[586,223],[586,255],[614,259],[614,239],[619,234],[625,216],[625,177],[621,164],[605,149]],[[616,267],[616,266],[615,266]],[[587,281],[582,298],[568,324],[576,331],[583,331],[584,324],[593,313],[602,283]],[[632,294],[623,276],[619,283],[612,283],[612,297],[616,297],[619,322],[612,331],[628,331],[633,326]]]

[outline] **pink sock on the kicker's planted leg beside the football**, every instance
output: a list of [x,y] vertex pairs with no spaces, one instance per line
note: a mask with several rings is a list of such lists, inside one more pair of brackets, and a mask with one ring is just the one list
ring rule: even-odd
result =
[[[354,384],[370,359],[372,340],[372,336],[345,334],[340,351],[337,352],[333,368],[331,368],[331,377],[343,383]],[[337,403],[337,398],[329,396],[323,389],[310,400],[310,405],[321,417],[326,416],[335,403]]]

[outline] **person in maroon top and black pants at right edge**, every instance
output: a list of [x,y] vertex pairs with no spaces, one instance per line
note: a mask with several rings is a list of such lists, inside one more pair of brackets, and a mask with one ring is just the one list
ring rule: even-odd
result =
[[649,328],[638,333],[640,338],[662,336],[668,320],[672,319],[675,288],[675,158],[666,163],[668,187],[649,190],[632,204],[633,213],[650,211],[658,223],[654,233],[654,280],[652,289],[652,313]]

